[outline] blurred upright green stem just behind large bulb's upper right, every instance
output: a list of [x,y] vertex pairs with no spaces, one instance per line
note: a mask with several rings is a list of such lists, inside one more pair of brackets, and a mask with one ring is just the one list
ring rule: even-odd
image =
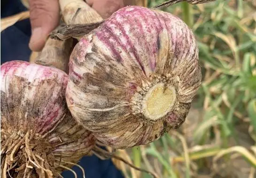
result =
[[181,2],[183,21],[192,28],[194,22],[193,7],[187,2]]

